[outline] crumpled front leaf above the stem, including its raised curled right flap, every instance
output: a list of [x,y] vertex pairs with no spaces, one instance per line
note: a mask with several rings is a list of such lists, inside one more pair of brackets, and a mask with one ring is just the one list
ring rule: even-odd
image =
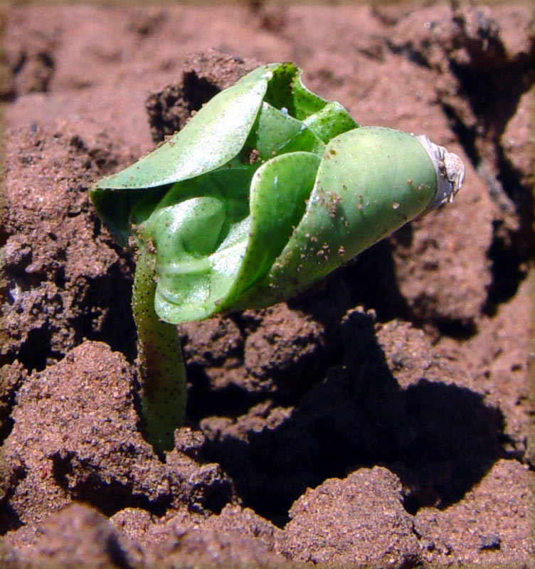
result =
[[[209,317],[264,277],[304,213],[318,165],[318,156],[297,152],[254,176],[253,166],[219,169],[176,184],[138,228],[156,250],[159,317]],[[251,188],[250,212],[243,188]]]

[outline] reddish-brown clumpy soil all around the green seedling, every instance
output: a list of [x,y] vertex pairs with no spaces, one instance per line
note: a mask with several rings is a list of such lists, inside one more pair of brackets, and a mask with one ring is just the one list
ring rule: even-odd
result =
[[[0,565],[534,567],[534,57],[527,4],[5,9]],[[88,188],[284,60],[465,186],[290,302],[181,326],[162,462]]]

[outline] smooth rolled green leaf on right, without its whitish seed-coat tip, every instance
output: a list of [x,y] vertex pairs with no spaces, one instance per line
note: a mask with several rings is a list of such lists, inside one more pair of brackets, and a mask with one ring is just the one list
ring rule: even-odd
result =
[[335,137],[300,224],[239,306],[296,294],[424,211],[436,189],[435,168],[410,134],[361,127]]

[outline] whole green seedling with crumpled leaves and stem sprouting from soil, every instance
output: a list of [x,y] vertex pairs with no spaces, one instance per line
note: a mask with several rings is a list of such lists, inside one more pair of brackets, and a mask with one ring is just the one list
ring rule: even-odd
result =
[[142,413],[159,453],[186,409],[176,324],[287,299],[462,184],[458,156],[359,127],[301,73],[271,63],[245,75],[90,192],[117,242],[137,248]]

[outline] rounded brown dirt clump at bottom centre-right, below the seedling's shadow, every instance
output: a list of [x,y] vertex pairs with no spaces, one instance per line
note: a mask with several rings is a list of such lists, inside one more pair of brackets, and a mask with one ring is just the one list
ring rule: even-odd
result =
[[385,468],[326,480],[295,501],[290,518],[279,548],[292,558],[358,566],[371,561],[398,565],[418,557],[401,484]]

